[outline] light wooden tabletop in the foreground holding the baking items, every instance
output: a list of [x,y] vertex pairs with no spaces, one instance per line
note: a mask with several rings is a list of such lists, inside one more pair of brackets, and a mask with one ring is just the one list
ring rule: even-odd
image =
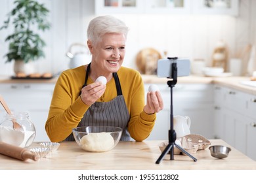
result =
[[[35,169],[35,170],[242,170],[256,169],[256,161],[248,158],[232,146],[226,144],[222,140],[210,140],[211,145],[223,144],[229,146],[232,150],[229,156],[224,159],[213,158],[209,149],[198,150],[196,154],[192,154],[198,161],[193,161],[188,156],[175,155],[170,160],[167,154],[160,162],[156,164],[156,160],[160,157],[161,151],[158,144],[161,141],[144,141],[144,142],[119,142],[117,146],[109,152],[85,152],[79,148],[75,142],[62,142],[56,152],[52,152],[46,158],[39,161],[20,161],[18,159],[9,158],[0,154],[0,169]],[[33,143],[35,145],[35,142]]]

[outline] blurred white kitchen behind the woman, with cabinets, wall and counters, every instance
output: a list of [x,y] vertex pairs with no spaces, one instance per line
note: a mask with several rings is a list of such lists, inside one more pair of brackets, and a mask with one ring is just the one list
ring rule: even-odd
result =
[[[6,63],[4,57],[9,52],[5,39],[13,33],[13,26],[0,30],[0,94],[12,111],[30,113],[36,128],[35,141],[49,141],[45,122],[58,75],[91,61],[86,45],[89,22],[98,15],[112,14],[130,29],[123,66],[140,71],[145,94],[150,84],[158,84],[164,99],[164,108],[158,112],[156,125],[146,140],[168,138],[170,90],[167,78],[156,76],[156,63],[159,58],[177,56],[190,59],[191,75],[179,78],[174,88],[174,115],[191,118],[192,134],[223,139],[256,160],[256,1],[37,2],[49,9],[44,20],[48,19],[51,28],[42,32],[32,26],[46,42],[45,58],[26,64],[32,66],[26,72],[33,71],[34,75],[14,77],[18,61]],[[14,0],[0,3],[2,27]],[[0,108],[0,119],[4,119],[3,111]]]

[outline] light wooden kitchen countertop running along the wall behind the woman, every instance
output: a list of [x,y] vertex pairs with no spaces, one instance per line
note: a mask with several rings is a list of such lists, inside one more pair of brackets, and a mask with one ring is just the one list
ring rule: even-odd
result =
[[[0,84],[1,83],[56,83],[58,77],[54,77],[51,79],[11,79],[10,76],[0,76]],[[145,84],[166,84],[168,80],[167,78],[158,78],[156,75],[142,75],[142,79]],[[230,88],[234,88],[236,90],[240,90],[242,92],[250,93],[256,95],[256,87],[246,86],[241,84],[241,81],[249,81],[249,77],[245,76],[228,76],[228,77],[206,77],[206,76],[183,76],[178,77],[177,84],[220,84],[222,86],[227,86]]]

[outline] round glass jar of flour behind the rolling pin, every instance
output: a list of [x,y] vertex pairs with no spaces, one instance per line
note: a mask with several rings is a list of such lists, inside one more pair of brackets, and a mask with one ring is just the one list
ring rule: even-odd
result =
[[[21,129],[13,128],[13,121],[22,126]],[[0,141],[22,148],[30,146],[35,139],[35,126],[29,118],[28,112],[6,114],[0,122]]]

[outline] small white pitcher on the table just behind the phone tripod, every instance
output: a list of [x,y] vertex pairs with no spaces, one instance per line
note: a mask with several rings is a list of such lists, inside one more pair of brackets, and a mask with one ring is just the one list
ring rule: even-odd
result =
[[188,116],[174,116],[173,129],[175,129],[177,139],[190,134],[190,117]]

